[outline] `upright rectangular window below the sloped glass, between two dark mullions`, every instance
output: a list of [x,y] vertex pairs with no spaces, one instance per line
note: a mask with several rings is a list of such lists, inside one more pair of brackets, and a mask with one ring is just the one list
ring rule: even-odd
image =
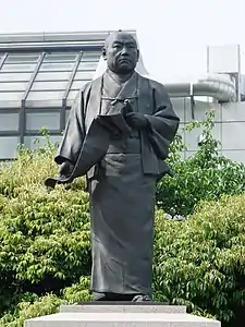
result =
[[26,112],[27,131],[39,131],[42,128],[48,131],[60,130],[60,112]]

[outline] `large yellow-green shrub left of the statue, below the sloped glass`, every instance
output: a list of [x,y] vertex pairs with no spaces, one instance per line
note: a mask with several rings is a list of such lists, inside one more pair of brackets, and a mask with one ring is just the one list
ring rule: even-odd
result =
[[56,147],[3,165],[0,178],[0,315],[22,293],[59,293],[90,274],[88,194],[84,180],[48,192]]

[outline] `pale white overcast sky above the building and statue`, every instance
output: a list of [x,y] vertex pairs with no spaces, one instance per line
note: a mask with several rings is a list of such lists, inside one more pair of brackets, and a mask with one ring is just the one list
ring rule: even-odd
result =
[[193,82],[206,73],[207,46],[245,53],[244,17],[245,0],[2,0],[0,33],[136,29],[150,75]]

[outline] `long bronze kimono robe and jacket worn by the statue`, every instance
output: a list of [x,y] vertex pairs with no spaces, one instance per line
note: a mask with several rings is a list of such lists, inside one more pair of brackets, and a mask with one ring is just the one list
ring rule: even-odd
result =
[[112,135],[106,156],[87,172],[91,226],[91,289],[119,294],[151,294],[156,181],[177,131],[179,118],[164,87],[133,73],[124,84],[111,73],[88,83],[71,110],[56,157],[75,164],[97,114],[111,114],[113,101],[130,99],[149,129],[127,137]]

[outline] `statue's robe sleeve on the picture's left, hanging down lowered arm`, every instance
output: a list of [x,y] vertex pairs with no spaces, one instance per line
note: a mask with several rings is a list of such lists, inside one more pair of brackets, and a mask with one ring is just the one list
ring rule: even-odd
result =
[[64,135],[54,160],[58,165],[75,165],[85,137],[84,93],[79,90],[71,108]]

